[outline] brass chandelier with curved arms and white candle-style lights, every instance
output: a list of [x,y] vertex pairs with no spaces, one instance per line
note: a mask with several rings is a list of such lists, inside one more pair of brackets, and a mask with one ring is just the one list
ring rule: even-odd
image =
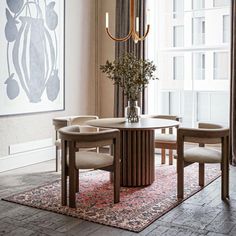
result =
[[145,34],[141,37],[139,36],[139,17],[136,17],[136,24],[135,24],[134,0],[130,0],[130,19],[129,19],[130,31],[129,31],[128,35],[123,38],[115,38],[114,36],[112,36],[112,34],[109,31],[109,14],[108,14],[108,12],[106,12],[106,32],[111,39],[113,39],[114,41],[117,41],[117,42],[125,42],[131,37],[135,43],[137,43],[138,41],[143,41],[147,37],[149,30],[150,30],[149,10],[147,13],[148,13],[147,14],[147,30],[146,30]]

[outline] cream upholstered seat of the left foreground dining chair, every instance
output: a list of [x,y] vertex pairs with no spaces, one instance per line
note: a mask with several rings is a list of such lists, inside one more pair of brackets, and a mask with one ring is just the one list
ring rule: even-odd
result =
[[[69,157],[67,157],[69,165]],[[113,165],[113,156],[104,153],[89,151],[76,152],[75,167],[76,169],[99,169]]]

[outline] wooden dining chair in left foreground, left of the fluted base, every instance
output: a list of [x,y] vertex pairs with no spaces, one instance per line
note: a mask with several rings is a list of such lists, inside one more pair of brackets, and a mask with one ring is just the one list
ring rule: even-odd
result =
[[[120,201],[120,132],[117,129],[102,129],[98,132],[80,133],[79,126],[59,130],[62,141],[61,203],[67,205],[67,176],[69,176],[69,207],[76,207],[76,192],[79,191],[79,169],[102,169],[114,174],[114,203]],[[77,151],[80,148],[112,145],[113,154],[94,151]],[[68,154],[68,155],[67,155]]]

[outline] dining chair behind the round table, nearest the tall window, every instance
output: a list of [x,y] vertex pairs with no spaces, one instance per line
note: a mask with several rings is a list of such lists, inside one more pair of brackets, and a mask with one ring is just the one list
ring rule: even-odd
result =
[[[174,115],[151,115],[150,118],[168,119],[179,121]],[[175,127],[177,129],[178,127]],[[169,150],[169,165],[173,165],[173,150],[177,149],[177,137],[172,128],[161,129],[161,133],[155,132],[155,148],[161,149],[161,164],[166,163],[166,150]]]

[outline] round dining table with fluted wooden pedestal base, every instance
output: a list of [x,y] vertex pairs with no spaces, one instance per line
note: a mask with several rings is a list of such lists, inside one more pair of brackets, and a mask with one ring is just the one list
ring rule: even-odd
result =
[[154,131],[178,127],[179,122],[158,118],[140,118],[129,123],[125,118],[91,120],[88,125],[120,130],[121,186],[147,186],[155,179]]

